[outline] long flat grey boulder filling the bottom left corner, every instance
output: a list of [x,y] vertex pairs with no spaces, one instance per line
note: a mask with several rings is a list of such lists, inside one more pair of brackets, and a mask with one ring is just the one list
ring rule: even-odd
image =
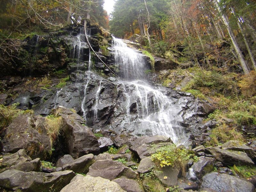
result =
[[0,187],[25,192],[59,191],[75,177],[72,171],[42,173],[6,170],[0,173]]

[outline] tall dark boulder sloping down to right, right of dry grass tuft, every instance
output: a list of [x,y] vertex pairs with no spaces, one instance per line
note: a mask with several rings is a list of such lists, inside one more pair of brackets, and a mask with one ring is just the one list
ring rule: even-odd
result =
[[56,111],[62,117],[60,134],[64,138],[63,146],[67,146],[66,152],[73,158],[89,153],[98,155],[100,153],[98,140],[91,129],[84,125],[85,122],[82,117],[70,109],[60,106]]

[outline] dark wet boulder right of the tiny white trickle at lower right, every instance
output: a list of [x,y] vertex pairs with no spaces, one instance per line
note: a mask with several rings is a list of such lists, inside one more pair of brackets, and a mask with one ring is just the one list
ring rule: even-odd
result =
[[194,163],[194,165],[192,166],[196,177],[197,178],[202,178],[206,173],[209,173],[213,170],[214,167],[214,162],[215,159],[211,158],[211,157],[204,157],[201,156],[199,158],[199,161],[197,161],[196,163]]

